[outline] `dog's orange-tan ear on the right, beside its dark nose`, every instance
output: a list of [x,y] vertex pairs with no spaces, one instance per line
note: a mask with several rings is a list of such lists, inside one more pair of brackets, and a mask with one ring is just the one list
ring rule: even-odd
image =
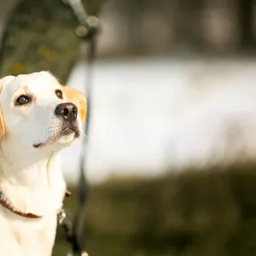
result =
[[84,125],[87,113],[87,101],[84,94],[79,90],[68,88],[65,86],[63,86],[63,89],[65,91],[65,95],[67,96],[67,101],[72,102],[78,107],[79,117]]

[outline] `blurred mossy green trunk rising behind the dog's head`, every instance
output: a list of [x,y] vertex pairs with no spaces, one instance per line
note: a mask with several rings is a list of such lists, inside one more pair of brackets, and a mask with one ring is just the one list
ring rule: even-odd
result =
[[[96,14],[103,0],[90,2]],[[63,82],[79,57],[78,20],[61,0],[22,0],[9,17],[0,55],[0,76],[50,70]]]

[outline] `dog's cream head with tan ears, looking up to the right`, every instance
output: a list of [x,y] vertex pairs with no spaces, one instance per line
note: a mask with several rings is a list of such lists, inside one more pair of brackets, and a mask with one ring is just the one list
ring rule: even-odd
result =
[[0,79],[0,141],[61,149],[81,136],[86,99],[47,72]]

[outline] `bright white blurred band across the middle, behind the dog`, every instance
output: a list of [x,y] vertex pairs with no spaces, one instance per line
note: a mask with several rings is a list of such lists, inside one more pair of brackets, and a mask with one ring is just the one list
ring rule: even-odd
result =
[[[84,90],[85,64],[69,85]],[[155,175],[256,156],[256,62],[147,58],[98,61],[87,177]],[[81,142],[62,151],[68,179]]]

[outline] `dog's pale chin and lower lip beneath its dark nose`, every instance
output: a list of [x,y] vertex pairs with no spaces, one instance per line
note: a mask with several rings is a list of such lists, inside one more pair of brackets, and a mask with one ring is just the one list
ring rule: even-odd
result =
[[35,143],[33,144],[33,147],[42,148],[45,146],[57,146],[63,148],[69,146],[79,136],[79,131],[72,128],[66,128],[61,131],[57,136],[51,137],[46,143]]

